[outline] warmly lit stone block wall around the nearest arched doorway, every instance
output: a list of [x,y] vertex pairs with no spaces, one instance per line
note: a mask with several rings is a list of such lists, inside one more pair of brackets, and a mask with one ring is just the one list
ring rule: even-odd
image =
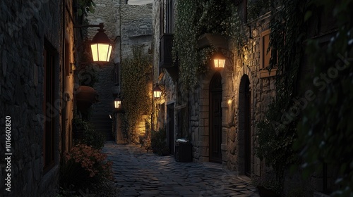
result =
[[[275,78],[260,77],[260,35],[264,30],[268,30],[269,19],[256,21],[252,25],[252,38],[247,33],[247,43],[243,47],[241,58],[236,58],[234,64],[234,74],[231,78],[228,96],[223,99],[230,99],[228,122],[225,122],[224,130],[227,132],[227,168],[244,173],[244,158],[241,151],[244,151],[242,142],[244,131],[241,124],[244,122],[245,106],[239,103],[241,95],[241,77],[246,75],[249,77],[249,87],[251,91],[251,174],[261,175],[261,171],[265,172],[265,168],[260,159],[255,155],[256,141],[256,124],[263,120],[264,114],[268,109],[271,98],[275,96]],[[237,54],[236,51],[233,51]],[[236,56],[239,56],[237,54]]]

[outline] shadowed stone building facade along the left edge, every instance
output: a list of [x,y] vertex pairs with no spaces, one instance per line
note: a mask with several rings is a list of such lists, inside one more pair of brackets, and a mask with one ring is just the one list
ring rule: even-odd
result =
[[1,1],[1,196],[54,196],[59,187],[61,156],[72,145],[72,8]]

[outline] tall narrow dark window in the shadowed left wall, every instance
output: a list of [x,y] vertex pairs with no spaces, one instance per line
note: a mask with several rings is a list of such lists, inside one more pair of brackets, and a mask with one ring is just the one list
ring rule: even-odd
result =
[[49,45],[44,46],[44,99],[43,99],[43,114],[44,134],[43,134],[43,157],[44,157],[44,173],[48,172],[55,165],[55,116],[56,109],[54,108],[54,63],[55,51]]

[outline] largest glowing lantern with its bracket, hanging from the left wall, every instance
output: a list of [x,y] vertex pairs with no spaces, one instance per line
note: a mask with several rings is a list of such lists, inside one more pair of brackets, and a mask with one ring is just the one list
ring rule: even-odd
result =
[[95,34],[95,37],[93,37],[90,44],[93,62],[109,62],[113,44],[108,38],[107,34],[104,33],[104,24],[100,23],[100,25],[80,25],[75,27],[100,27],[100,29],[97,30],[98,32],[97,34]]

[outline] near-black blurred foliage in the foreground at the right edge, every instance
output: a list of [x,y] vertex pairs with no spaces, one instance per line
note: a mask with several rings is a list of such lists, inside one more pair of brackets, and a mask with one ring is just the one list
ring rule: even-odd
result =
[[[353,196],[353,1],[310,1],[306,20],[334,18],[337,32],[325,44],[309,39],[308,64],[314,68],[313,101],[308,101],[298,125],[294,146],[304,159],[304,177],[337,170],[335,191],[331,196]],[[322,13],[321,13],[322,11]]]

